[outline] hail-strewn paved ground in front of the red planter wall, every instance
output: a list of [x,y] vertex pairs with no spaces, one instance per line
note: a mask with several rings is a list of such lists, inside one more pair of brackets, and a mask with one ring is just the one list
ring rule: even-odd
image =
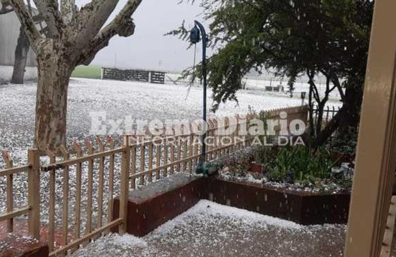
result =
[[144,237],[110,234],[73,256],[341,256],[345,225],[301,226],[201,200]]

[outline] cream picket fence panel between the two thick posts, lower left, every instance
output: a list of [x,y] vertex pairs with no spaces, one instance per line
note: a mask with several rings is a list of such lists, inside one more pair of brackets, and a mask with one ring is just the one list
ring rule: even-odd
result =
[[[103,233],[109,232],[111,228],[118,226],[119,233],[125,233],[127,226],[127,204],[128,204],[128,181],[129,181],[129,162],[130,162],[130,148],[128,145],[123,144],[120,148],[115,148],[113,139],[109,139],[109,149],[106,149],[105,143],[97,137],[97,144],[99,145],[99,151],[95,153],[94,146],[91,141],[85,140],[85,148],[88,152],[87,155],[83,154],[81,146],[74,143],[74,150],[77,154],[75,158],[69,158],[68,151],[62,147],[63,158],[57,161],[55,154],[47,152],[50,157],[50,163],[47,166],[42,166],[42,172],[49,172],[49,223],[48,223],[48,246],[50,256],[62,255],[69,252],[73,252],[78,249],[81,245],[83,246],[93,238],[100,236]],[[121,156],[121,166],[118,171],[115,169],[115,157]],[[109,158],[109,180],[107,183],[107,189],[109,191],[109,197],[107,198],[107,221],[102,220],[103,217],[103,191],[104,191],[104,170],[105,170],[105,158]],[[99,162],[98,176],[94,177],[95,162]],[[82,169],[83,163],[88,163],[86,170]],[[69,219],[69,168],[71,166],[76,167],[76,196],[75,196],[75,213],[74,213],[74,234],[69,235],[70,226],[68,225]],[[55,249],[55,231],[56,231],[56,176],[57,171],[63,172],[63,205],[62,205],[62,242],[61,247]],[[87,200],[86,200],[86,222],[85,222],[85,234],[81,236],[81,193],[82,193],[82,172],[87,173]],[[115,173],[120,173],[120,209],[119,218],[112,220],[113,212],[113,198],[114,198],[114,176]],[[94,179],[97,179],[97,211],[94,226],[93,221],[93,198],[94,198]],[[71,238],[69,238],[71,237]],[[71,241],[69,240],[71,239]]]

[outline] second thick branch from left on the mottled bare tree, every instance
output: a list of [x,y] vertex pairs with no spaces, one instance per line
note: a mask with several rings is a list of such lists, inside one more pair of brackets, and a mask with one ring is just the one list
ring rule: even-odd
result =
[[33,0],[35,6],[44,17],[44,21],[52,36],[59,36],[63,32],[64,23],[57,0]]

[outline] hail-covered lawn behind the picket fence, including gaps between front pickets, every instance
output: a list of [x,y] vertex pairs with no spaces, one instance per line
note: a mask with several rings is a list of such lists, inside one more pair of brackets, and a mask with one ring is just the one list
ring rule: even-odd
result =
[[[136,120],[194,120],[201,117],[202,89],[183,85],[155,85],[150,83],[120,82],[110,80],[71,79],[68,93],[67,113],[67,147],[72,149],[73,141],[83,144],[85,138],[93,138],[90,130],[92,126],[91,112],[103,112],[106,115],[107,133],[114,134],[114,125],[121,124],[125,117],[130,116],[132,122]],[[14,159],[14,166],[27,163],[27,150],[32,146],[34,137],[34,109],[36,84],[0,85],[0,151],[8,150]],[[239,103],[227,102],[221,104],[219,111],[211,116],[227,116],[246,114],[249,106],[256,111],[296,106],[301,103],[299,96],[290,98],[288,95],[267,94],[261,90],[241,90],[237,94]],[[212,100],[208,96],[208,108]],[[127,119],[128,120],[128,119]],[[111,131],[113,130],[113,131]],[[116,130],[116,134],[122,130]],[[116,140],[119,135],[114,135]],[[104,138],[104,137],[103,137]],[[98,149],[97,145],[95,145]],[[116,157],[115,194],[119,189],[120,156]],[[43,159],[43,161],[46,161]],[[109,167],[105,159],[105,183],[109,178]],[[95,162],[94,178],[98,177],[98,162]],[[5,163],[0,158],[0,169]],[[76,167],[69,170],[69,223],[74,222]],[[48,172],[41,174],[41,210],[42,222],[48,219]],[[57,222],[61,225],[63,203],[62,170],[57,171],[56,180],[56,211]],[[94,179],[94,215],[97,215],[98,179]],[[104,186],[104,199],[108,198],[107,186]],[[5,177],[0,178],[0,212],[6,207]],[[26,174],[14,176],[14,205],[22,207],[27,204]],[[87,199],[87,163],[83,164],[82,172],[82,226],[85,222],[85,208]],[[103,218],[106,218],[106,202],[103,207]],[[95,221],[95,216],[94,216]]]

